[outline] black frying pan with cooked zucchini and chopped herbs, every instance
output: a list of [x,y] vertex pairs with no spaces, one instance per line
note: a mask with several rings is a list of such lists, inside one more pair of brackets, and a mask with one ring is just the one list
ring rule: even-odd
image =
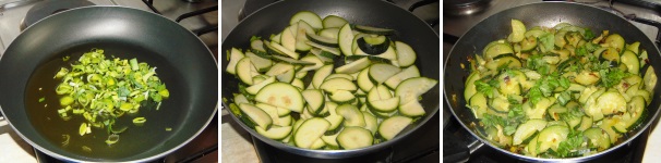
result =
[[[654,43],[645,34],[642,34],[640,29],[615,14],[597,9],[594,7],[564,2],[533,3],[505,10],[483,20],[464,34],[464,36],[461,36],[461,38],[455,43],[449,52],[448,58],[445,60],[445,84],[443,87],[445,89],[445,97],[447,99],[446,102],[448,102],[450,105],[450,111],[453,112],[454,116],[474,137],[478,137],[478,135],[473,128],[469,127],[469,124],[478,124],[479,121],[476,120],[472,112],[465,106],[466,99],[464,99],[464,83],[466,82],[466,77],[469,75],[469,71],[466,68],[468,68],[468,65],[470,65],[467,61],[467,57],[482,51],[482,48],[490,41],[506,38],[507,35],[512,33],[512,26],[509,24],[512,18],[520,20],[526,24],[527,27],[552,27],[561,22],[566,22],[576,26],[590,27],[592,32],[598,35],[600,35],[602,30],[608,29],[611,32],[611,34],[616,33],[622,35],[626,42],[640,41],[640,48],[647,50],[651,65],[656,67],[656,73],[660,74],[659,71],[661,68],[659,67],[661,67],[661,58]],[[466,68],[460,66],[461,63],[467,65]],[[627,146],[630,140],[635,139],[638,137],[638,135],[647,129],[654,117],[657,117],[659,114],[661,97],[658,95],[661,92],[660,89],[661,88],[657,84],[653,93],[657,96],[652,97],[653,100],[648,106],[649,116],[645,117],[642,125],[637,129],[630,130],[628,138],[625,138],[626,140],[623,142],[593,155],[562,160],[530,158],[500,149],[489,143],[485,139],[481,137],[478,138],[482,142],[489,145],[491,148],[495,148],[505,154],[526,161],[576,162],[591,160],[600,155],[608,154],[609,152],[623,146]]]

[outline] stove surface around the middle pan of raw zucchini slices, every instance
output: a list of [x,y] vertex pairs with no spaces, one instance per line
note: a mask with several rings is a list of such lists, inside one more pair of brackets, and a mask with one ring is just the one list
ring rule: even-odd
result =
[[[390,0],[394,4],[409,9],[420,1],[429,0]],[[275,2],[275,0],[227,0],[223,3],[223,39],[237,26],[241,18],[254,11]],[[432,28],[440,33],[440,2],[431,0],[413,10],[413,14],[431,23]],[[422,4],[422,3],[419,3]],[[440,158],[440,113],[435,114],[420,129],[389,149],[374,153],[342,160],[319,160],[301,156],[278,150],[250,136],[241,126],[236,124],[223,110],[223,162],[438,162]]]

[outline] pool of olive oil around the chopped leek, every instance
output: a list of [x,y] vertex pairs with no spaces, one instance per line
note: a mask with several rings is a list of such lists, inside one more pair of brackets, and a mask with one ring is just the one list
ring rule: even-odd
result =
[[[181,109],[182,106],[171,105],[182,103],[178,102],[179,100],[175,100],[180,95],[171,93],[169,99],[163,101],[159,110],[155,110],[156,104],[147,104],[141,106],[140,112],[135,114],[125,113],[123,116],[118,117],[113,128],[119,129],[125,126],[128,129],[119,134],[119,141],[111,146],[105,142],[110,135],[107,131],[108,128],[91,127],[91,134],[81,136],[79,129],[81,124],[85,122],[83,116],[73,115],[71,112],[68,113],[71,117],[69,120],[63,120],[59,116],[58,110],[62,109],[59,103],[61,96],[58,96],[55,89],[61,83],[61,78],[56,79],[53,76],[60,67],[71,68],[71,64],[77,61],[83,52],[87,52],[88,50],[82,49],[76,52],[68,52],[71,53],[69,61],[65,62],[61,58],[57,58],[45,62],[33,72],[27,84],[27,90],[25,90],[26,97],[24,102],[29,121],[36,130],[50,141],[52,146],[60,147],[65,151],[79,155],[99,159],[128,158],[149,151],[154,147],[167,142],[172,134],[178,130],[178,127],[181,127],[182,114],[185,113],[173,114],[172,112],[164,111],[164,109]],[[107,59],[111,58],[110,54],[116,53],[111,50],[109,51],[109,49],[105,50],[107,51]],[[146,62],[149,63],[148,61]],[[158,74],[158,76],[163,76],[161,79],[166,84],[168,84],[166,78],[171,78],[167,77],[165,73]],[[171,89],[170,92],[181,91]],[[147,121],[143,126],[136,126],[132,122],[135,117],[145,117]]]

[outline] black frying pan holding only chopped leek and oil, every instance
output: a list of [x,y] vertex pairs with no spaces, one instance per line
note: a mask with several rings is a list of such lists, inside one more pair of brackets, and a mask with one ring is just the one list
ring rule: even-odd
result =
[[[106,138],[87,139],[93,141],[86,145],[92,152],[81,154],[71,152],[71,148],[81,148],[76,142],[62,147],[59,141],[46,138],[62,133],[37,129],[63,122],[58,116],[28,116],[32,108],[26,105],[36,101],[26,100],[26,92],[37,91],[28,89],[31,78],[53,80],[52,74],[58,70],[40,67],[59,62],[64,55],[77,60],[76,55],[93,48],[104,49],[108,58],[110,54],[137,58],[158,67],[156,73],[171,96],[158,111],[142,108],[140,114],[147,118],[145,125],[131,125],[112,148],[107,148]],[[46,73],[35,73],[35,70]],[[0,106],[25,141],[51,156],[73,162],[144,162],[182,147],[211,122],[218,104],[217,72],[215,59],[206,46],[194,34],[166,17],[122,7],[80,8],[41,20],[13,40],[0,59]],[[55,87],[44,88],[45,91],[52,89]],[[43,110],[55,112],[57,106]],[[163,126],[172,130],[166,131]],[[79,135],[71,134],[71,137]]]

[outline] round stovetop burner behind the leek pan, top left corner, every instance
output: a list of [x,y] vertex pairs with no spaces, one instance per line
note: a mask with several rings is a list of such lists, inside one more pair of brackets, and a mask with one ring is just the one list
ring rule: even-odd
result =
[[23,21],[21,21],[21,32],[49,15],[87,5],[94,5],[94,3],[86,0],[47,0],[38,2],[27,11]]

